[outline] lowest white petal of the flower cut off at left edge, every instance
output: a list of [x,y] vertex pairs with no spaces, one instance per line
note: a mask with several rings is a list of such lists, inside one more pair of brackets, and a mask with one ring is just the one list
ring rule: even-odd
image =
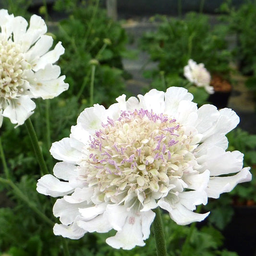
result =
[[15,127],[23,124],[28,119],[36,108],[36,104],[29,96],[21,96],[9,100],[9,105],[3,110],[2,115],[8,117],[12,123],[17,123]]

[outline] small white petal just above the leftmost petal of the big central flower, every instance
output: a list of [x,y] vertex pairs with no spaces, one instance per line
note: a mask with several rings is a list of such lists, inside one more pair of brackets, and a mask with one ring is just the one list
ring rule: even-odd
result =
[[58,162],[53,168],[53,174],[58,179],[69,181],[69,179],[76,175],[76,165],[67,162]]

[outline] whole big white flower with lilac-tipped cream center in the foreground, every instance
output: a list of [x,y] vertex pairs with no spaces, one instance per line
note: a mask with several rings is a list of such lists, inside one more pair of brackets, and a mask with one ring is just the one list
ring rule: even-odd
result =
[[72,239],[85,232],[117,231],[107,243],[131,249],[144,245],[161,207],[180,225],[205,219],[197,205],[218,198],[237,183],[251,180],[243,154],[226,152],[225,136],[239,122],[230,109],[213,105],[197,109],[182,87],[105,109],[85,109],[69,138],[53,143],[50,152],[61,162],[54,176],[38,180],[37,191],[57,199],[60,217],[54,233]]

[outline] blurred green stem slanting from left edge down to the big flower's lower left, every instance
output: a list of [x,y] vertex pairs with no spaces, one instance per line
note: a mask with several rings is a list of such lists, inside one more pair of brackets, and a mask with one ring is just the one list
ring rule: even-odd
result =
[[30,207],[35,213],[37,213],[37,215],[41,219],[43,219],[45,222],[51,225],[51,227],[54,225],[54,222],[50,220],[46,215],[44,215],[38,209],[38,207],[34,204],[34,202],[31,201],[30,198],[28,198],[26,195],[24,195],[24,193],[11,180],[0,178],[0,182],[11,186],[15,195],[18,196],[20,199],[22,199],[27,204],[28,207]]

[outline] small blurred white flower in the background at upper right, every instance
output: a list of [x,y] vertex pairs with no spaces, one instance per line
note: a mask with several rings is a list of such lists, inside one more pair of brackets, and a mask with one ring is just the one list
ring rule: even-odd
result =
[[207,93],[214,93],[214,88],[210,85],[211,75],[203,63],[196,64],[195,61],[189,60],[188,65],[184,67],[184,76],[196,86],[204,87]]

